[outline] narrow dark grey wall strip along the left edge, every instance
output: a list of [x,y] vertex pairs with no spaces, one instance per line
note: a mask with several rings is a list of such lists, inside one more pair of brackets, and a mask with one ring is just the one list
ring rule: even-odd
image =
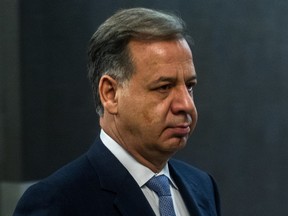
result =
[[0,0],[0,181],[21,177],[21,95],[17,0]]

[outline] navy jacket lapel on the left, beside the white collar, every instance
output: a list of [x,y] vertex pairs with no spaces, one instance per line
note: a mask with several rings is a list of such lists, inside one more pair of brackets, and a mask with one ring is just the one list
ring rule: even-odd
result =
[[100,139],[88,151],[88,158],[102,189],[115,196],[121,215],[155,215],[137,182]]

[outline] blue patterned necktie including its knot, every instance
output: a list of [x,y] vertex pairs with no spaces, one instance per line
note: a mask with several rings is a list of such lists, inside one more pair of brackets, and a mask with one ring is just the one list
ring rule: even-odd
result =
[[159,197],[159,210],[161,216],[176,216],[170,192],[169,179],[165,175],[154,176],[147,183]]

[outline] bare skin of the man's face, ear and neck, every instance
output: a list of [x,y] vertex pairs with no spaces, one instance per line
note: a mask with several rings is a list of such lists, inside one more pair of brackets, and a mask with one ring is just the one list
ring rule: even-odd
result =
[[184,39],[128,44],[135,73],[124,84],[104,75],[100,125],[137,161],[157,173],[182,149],[197,122],[192,52]]

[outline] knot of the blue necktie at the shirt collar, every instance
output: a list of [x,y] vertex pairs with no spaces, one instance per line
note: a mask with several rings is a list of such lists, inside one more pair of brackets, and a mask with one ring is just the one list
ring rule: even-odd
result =
[[160,196],[171,196],[169,179],[165,175],[153,176],[147,183],[147,187]]

